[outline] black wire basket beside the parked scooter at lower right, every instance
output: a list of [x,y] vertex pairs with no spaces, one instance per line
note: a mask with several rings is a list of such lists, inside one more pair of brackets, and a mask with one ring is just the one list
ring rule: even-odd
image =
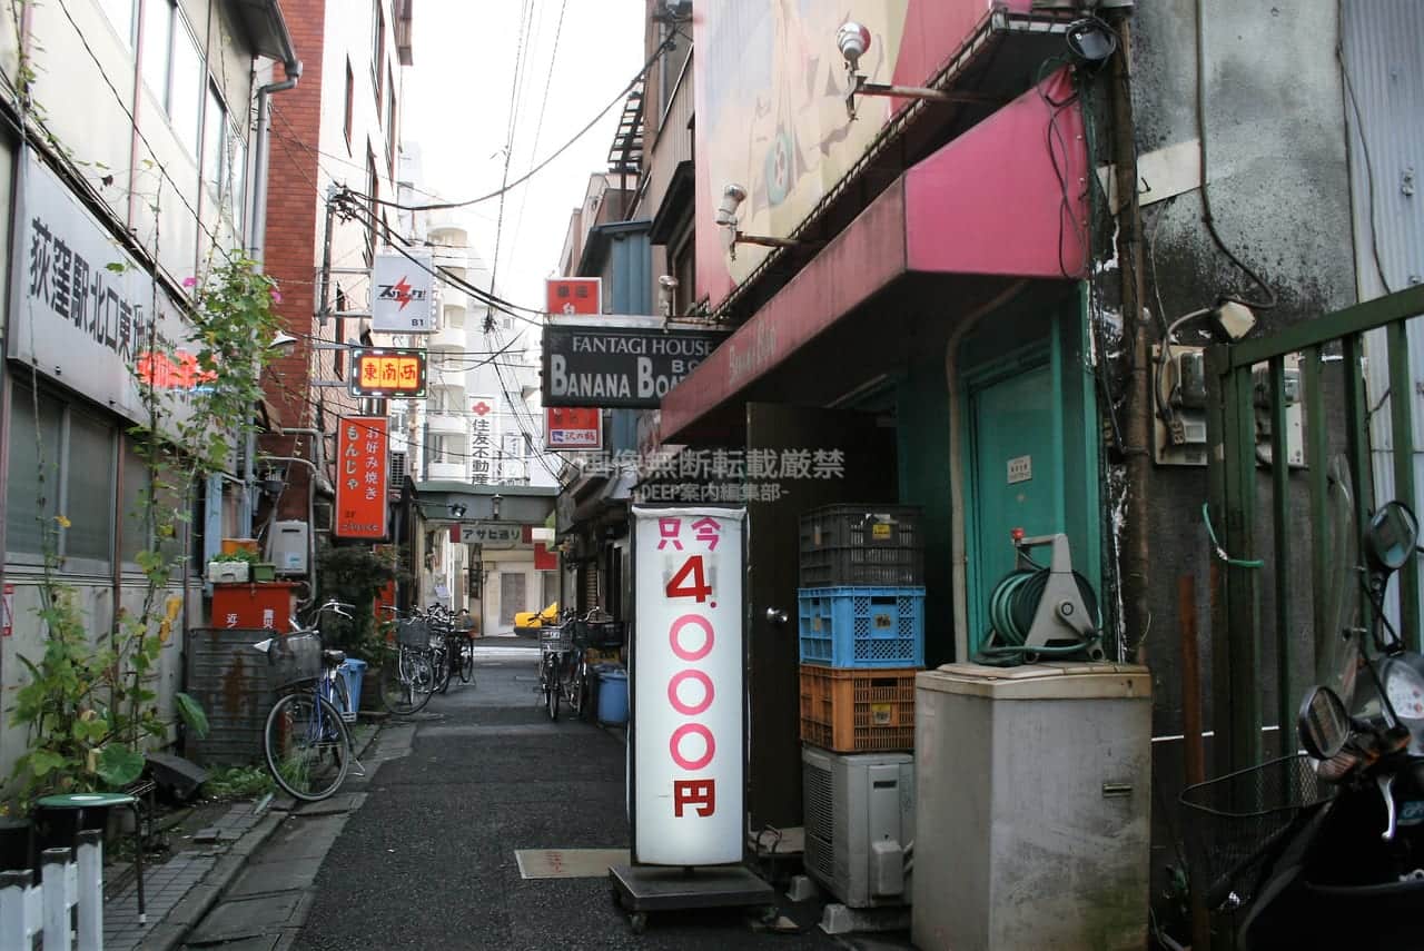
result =
[[1188,786],[1179,802],[1192,888],[1209,908],[1255,897],[1267,858],[1312,806],[1334,796],[1306,755]]

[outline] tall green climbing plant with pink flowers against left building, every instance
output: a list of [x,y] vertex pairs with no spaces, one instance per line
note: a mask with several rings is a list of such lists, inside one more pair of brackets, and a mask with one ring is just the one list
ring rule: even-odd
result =
[[[114,265],[124,269],[125,265]],[[192,508],[192,487],[228,467],[235,446],[252,431],[252,406],[261,397],[266,349],[278,329],[275,282],[252,261],[231,255],[212,265],[204,280],[185,282],[192,290],[189,340],[162,340],[157,322],[140,327],[135,383],[144,397],[147,421],[130,430],[144,463],[138,491],[148,548],[135,561],[144,574],[140,611],[120,609],[108,638],[93,641],[78,595],[60,577],[58,532],[70,527],[63,515],[44,531],[44,574],[38,611],[46,628],[38,659],[21,656],[28,681],[16,696],[13,722],[30,730],[28,749],[13,780],[23,800],[51,792],[121,789],[144,769],[144,749],[171,726],[159,715],[157,673],[164,645],[172,636],[182,598],[171,592],[181,579],[181,525]],[[158,313],[158,288],[150,313]],[[184,367],[184,383],[158,383],[157,362]],[[44,454],[40,453],[40,498],[44,513]],[[249,552],[226,561],[255,561]],[[181,629],[181,625],[178,625]],[[178,719],[198,736],[206,735],[202,706],[178,693]]]

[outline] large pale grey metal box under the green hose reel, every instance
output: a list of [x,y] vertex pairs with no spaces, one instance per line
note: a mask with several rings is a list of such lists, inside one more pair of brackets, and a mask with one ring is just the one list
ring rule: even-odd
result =
[[1148,945],[1145,666],[921,671],[914,750],[914,947]]

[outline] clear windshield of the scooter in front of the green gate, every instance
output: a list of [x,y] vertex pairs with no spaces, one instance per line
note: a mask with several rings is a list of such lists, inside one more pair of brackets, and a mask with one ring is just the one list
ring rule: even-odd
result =
[[1343,456],[1330,460],[1327,493],[1329,520],[1321,530],[1327,532],[1327,551],[1334,552],[1334,571],[1326,585],[1324,624],[1316,628],[1316,683],[1334,689],[1353,710],[1360,669],[1360,534],[1350,467]]

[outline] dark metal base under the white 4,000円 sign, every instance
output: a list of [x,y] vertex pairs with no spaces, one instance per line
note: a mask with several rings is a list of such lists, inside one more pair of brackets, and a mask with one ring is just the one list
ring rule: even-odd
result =
[[776,890],[743,866],[609,866],[608,880],[635,934],[646,927],[649,911],[760,907],[766,918],[778,913]]

